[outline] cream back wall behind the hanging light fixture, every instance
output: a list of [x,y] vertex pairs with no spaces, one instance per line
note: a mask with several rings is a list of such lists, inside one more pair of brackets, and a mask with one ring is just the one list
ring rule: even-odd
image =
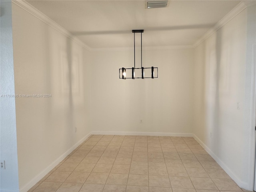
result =
[[[158,78],[119,79],[119,68],[134,66],[133,50],[90,53],[94,130],[191,134],[193,49],[142,52],[142,65],[158,67]],[[140,50],[136,53],[136,67],[140,67]],[[135,76],[141,76],[141,72],[135,71]]]

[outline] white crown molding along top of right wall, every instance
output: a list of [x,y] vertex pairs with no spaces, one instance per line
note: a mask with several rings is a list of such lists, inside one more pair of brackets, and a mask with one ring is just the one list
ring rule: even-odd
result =
[[228,14],[226,14],[218,23],[216,23],[208,32],[206,32],[199,40],[197,40],[193,47],[196,48],[206,39],[208,39],[214,32],[222,28],[227,22],[232,20],[236,15],[238,15],[242,10],[255,4],[255,1],[242,1],[236,7],[234,7]]

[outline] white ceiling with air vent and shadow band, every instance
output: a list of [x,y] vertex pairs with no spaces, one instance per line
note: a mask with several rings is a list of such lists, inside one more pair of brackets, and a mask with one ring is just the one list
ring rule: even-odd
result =
[[144,0],[27,2],[90,48],[122,48],[133,46],[133,29],[144,29],[143,46],[192,46],[241,1],[171,0],[152,9]]

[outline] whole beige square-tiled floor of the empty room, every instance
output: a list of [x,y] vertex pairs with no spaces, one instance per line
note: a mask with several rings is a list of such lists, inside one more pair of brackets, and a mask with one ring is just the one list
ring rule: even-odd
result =
[[192,137],[92,135],[28,192],[236,192]]

